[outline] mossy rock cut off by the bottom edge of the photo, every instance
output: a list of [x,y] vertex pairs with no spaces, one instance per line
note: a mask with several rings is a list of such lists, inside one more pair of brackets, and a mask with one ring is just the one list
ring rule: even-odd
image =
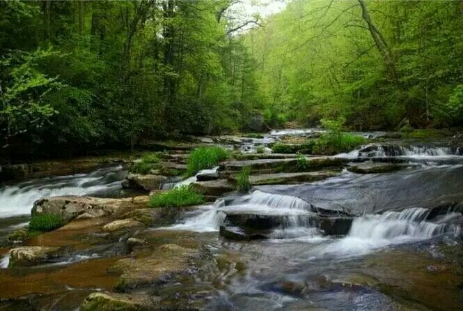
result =
[[108,292],[88,295],[81,304],[80,311],[93,310],[152,310],[150,297],[146,294],[116,294]]

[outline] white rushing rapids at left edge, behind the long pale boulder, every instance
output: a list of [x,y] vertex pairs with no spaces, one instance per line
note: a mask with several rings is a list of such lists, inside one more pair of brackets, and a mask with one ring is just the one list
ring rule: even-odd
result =
[[33,202],[42,197],[58,195],[91,195],[121,188],[126,172],[121,165],[97,169],[89,174],[75,174],[34,179],[0,188],[0,218],[26,215]]

